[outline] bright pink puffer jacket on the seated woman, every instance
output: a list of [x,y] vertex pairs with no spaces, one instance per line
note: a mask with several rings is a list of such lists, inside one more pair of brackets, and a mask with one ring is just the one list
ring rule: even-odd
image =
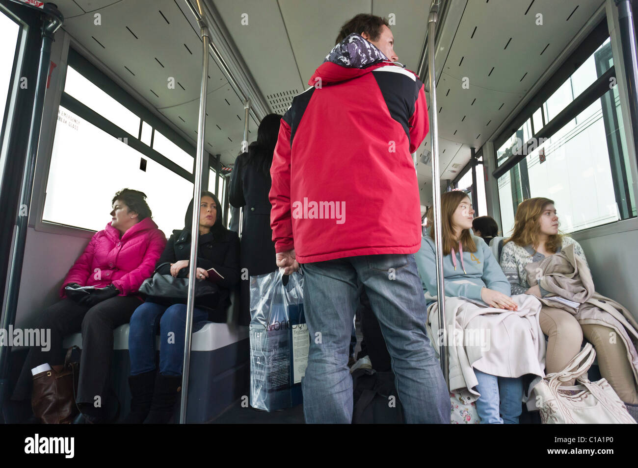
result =
[[130,227],[122,238],[108,223],[75,260],[62,282],[60,297],[66,297],[64,287],[69,283],[97,288],[112,283],[120,295],[135,294],[142,281],[151,277],[165,246],[166,236],[151,218]]

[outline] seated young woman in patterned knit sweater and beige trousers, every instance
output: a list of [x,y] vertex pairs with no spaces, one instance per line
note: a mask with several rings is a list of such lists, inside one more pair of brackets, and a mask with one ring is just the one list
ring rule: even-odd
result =
[[[581,246],[574,239],[558,232],[558,216],[554,201],[538,197],[519,204],[514,220],[514,234],[507,239],[501,253],[501,268],[512,285],[512,294],[549,294],[539,285],[530,288],[525,266],[574,245],[574,253],[587,264]],[[609,343],[609,327],[581,325],[574,315],[563,309],[543,306],[540,328],[549,337],[545,372],[558,372],[581,350],[584,336],[593,344],[600,374],[607,379],[616,394],[626,404],[638,404],[633,372],[623,344]],[[567,382],[565,385],[573,385]]]

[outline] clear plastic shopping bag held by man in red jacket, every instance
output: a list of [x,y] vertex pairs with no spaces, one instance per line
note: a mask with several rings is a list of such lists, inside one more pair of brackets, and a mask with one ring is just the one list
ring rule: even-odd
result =
[[275,411],[302,402],[310,338],[304,278],[279,271],[250,277],[250,404]]

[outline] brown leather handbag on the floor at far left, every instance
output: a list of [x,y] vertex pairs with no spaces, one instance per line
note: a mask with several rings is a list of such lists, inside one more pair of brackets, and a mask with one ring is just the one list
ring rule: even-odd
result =
[[70,424],[78,414],[74,395],[79,362],[71,362],[75,348],[77,346],[66,351],[64,365],[52,365],[50,370],[33,376],[31,408],[36,418],[45,424]]

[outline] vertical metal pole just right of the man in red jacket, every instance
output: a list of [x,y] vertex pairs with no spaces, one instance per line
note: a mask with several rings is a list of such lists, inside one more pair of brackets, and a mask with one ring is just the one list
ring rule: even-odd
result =
[[[430,136],[432,138],[432,195],[434,208],[434,245],[436,246],[436,295],[438,302],[438,322],[439,329],[443,330],[445,339],[439,347],[439,356],[441,357],[441,370],[445,383],[449,385],[449,365],[447,349],[447,333],[445,333],[445,283],[443,283],[443,236],[441,234],[441,173],[439,171],[439,155],[438,155],[438,118],[436,109],[436,73],[434,70],[434,53],[436,40],[436,22],[438,20],[438,8],[440,0],[433,0],[430,8],[430,15],[427,18],[427,57],[429,60],[429,83],[430,83]],[[437,330],[438,331],[438,330]],[[437,334],[438,336],[438,334]]]

